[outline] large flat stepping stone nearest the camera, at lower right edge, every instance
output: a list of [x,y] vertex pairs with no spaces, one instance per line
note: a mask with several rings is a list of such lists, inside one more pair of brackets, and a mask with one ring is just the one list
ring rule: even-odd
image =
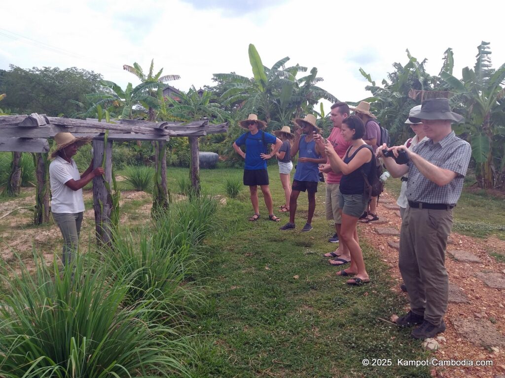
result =
[[496,327],[488,320],[469,318],[457,318],[452,321],[456,332],[472,344],[480,345],[484,348],[505,347],[505,337],[503,337]]

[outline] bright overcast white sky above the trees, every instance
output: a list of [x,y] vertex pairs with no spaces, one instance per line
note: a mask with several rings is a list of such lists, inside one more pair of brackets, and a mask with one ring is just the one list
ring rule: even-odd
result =
[[[465,5],[468,4],[468,5]],[[499,5],[501,4],[501,5]],[[147,72],[180,75],[187,91],[212,85],[214,73],[251,77],[253,43],[271,67],[317,67],[320,86],[339,100],[368,97],[360,67],[380,83],[393,62],[405,65],[406,49],[437,75],[447,47],[455,76],[475,64],[477,46],[491,42],[493,66],[505,62],[505,2],[322,0],[16,0],[0,7],[0,69],[77,67],[100,73],[121,87],[139,83],[123,71],[137,62]],[[477,9],[482,6],[482,11]]]

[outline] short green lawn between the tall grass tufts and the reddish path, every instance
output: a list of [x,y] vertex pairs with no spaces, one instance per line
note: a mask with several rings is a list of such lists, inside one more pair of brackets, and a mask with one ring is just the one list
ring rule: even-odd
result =
[[[172,169],[172,171],[177,171]],[[283,192],[278,169],[269,168],[276,207]],[[223,177],[240,170],[202,170],[203,186],[223,194]],[[301,233],[307,197],[299,199],[295,231],[279,231],[252,214],[246,188],[222,207],[218,232],[207,243],[208,261],[200,279],[208,303],[201,306],[190,333],[196,353],[188,361],[194,377],[428,377],[426,368],[398,367],[396,358],[426,357],[408,330],[379,320],[401,313],[405,295],[389,290],[386,267],[376,251],[363,244],[372,283],[349,287],[335,276],[322,254],[334,249],[333,234],[323,217],[324,185],[320,185],[314,229]],[[298,276],[297,279],[293,278]],[[363,366],[368,358],[391,359],[392,366]]]

